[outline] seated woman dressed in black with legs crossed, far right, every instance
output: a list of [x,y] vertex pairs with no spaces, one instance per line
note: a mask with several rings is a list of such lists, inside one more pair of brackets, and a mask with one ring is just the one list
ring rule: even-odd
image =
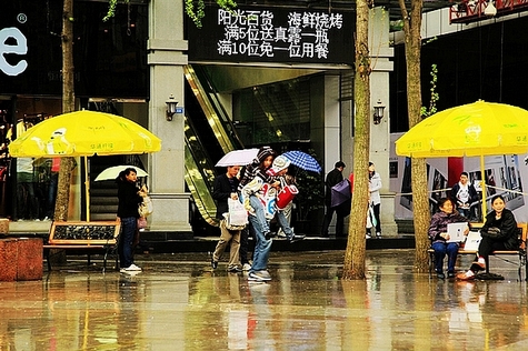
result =
[[517,250],[519,248],[519,234],[517,221],[514,213],[505,209],[506,202],[501,195],[494,197],[491,208],[494,209],[486,215],[486,222],[480,229],[480,244],[476,261],[471,268],[457,275],[460,280],[472,280],[478,271],[485,270],[488,264],[488,258],[494,251]]

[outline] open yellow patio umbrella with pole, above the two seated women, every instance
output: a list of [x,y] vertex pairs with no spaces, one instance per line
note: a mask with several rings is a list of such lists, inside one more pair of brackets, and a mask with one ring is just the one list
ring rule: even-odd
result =
[[528,111],[477,101],[426,118],[396,141],[396,153],[412,158],[480,157],[486,215],[485,156],[528,152]]

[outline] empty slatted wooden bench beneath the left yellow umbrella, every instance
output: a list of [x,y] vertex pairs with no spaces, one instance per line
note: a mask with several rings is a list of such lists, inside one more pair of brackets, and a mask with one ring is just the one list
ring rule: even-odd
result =
[[[107,269],[108,253],[116,250],[121,223],[114,221],[100,222],[53,222],[48,242],[44,243],[44,255],[48,270],[51,270],[50,257],[52,249],[88,251],[88,264],[93,251],[104,252],[103,268]],[[118,268],[116,255],[116,268]]]

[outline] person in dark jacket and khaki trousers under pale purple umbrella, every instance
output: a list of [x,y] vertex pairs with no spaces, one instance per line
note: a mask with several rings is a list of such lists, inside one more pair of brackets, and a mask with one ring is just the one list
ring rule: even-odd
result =
[[228,199],[238,199],[238,172],[239,166],[228,166],[227,172],[215,178],[212,185],[212,198],[217,200],[217,219],[220,220],[220,240],[217,243],[215,252],[212,253],[211,267],[218,268],[218,261],[220,260],[223,251],[229,243],[229,272],[240,272],[242,269],[239,265],[239,249],[240,249],[240,230],[229,230],[226,228],[226,219],[223,213],[229,212]]

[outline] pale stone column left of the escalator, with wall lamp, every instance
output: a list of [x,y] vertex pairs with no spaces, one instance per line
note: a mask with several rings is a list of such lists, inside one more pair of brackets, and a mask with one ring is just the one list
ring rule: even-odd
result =
[[189,198],[185,192],[183,114],[166,120],[167,99],[183,104],[183,2],[149,2],[148,63],[150,66],[149,129],[162,140],[161,151],[149,156],[150,195],[155,212],[150,231],[190,232]]

